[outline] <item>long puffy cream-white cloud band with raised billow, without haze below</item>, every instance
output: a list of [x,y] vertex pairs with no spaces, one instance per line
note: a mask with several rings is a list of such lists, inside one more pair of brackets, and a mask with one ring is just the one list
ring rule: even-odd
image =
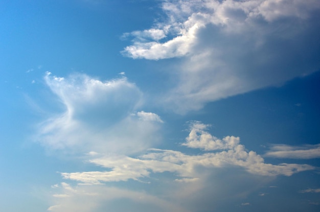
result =
[[187,142],[182,145],[216,152],[187,155],[179,151],[151,149],[147,154],[138,158],[119,155],[98,156],[89,162],[111,169],[110,171],[62,173],[62,176],[65,179],[85,184],[100,184],[128,179],[141,180],[149,177],[151,172],[172,172],[178,182],[193,182],[201,178],[201,173],[197,171],[199,167],[207,169],[240,167],[249,173],[262,176],[291,176],[294,173],[314,169],[307,164],[265,163],[256,152],[246,151],[240,144],[239,137],[226,136],[220,140],[206,132],[207,127],[202,123],[194,122],[191,125]]

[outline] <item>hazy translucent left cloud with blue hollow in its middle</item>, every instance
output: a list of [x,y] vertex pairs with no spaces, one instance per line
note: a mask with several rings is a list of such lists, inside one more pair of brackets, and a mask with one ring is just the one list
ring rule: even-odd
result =
[[45,82],[64,106],[64,111],[39,125],[36,139],[45,147],[130,154],[161,137],[158,115],[134,112],[143,95],[125,77],[102,82],[82,74],[61,78],[47,73]]

